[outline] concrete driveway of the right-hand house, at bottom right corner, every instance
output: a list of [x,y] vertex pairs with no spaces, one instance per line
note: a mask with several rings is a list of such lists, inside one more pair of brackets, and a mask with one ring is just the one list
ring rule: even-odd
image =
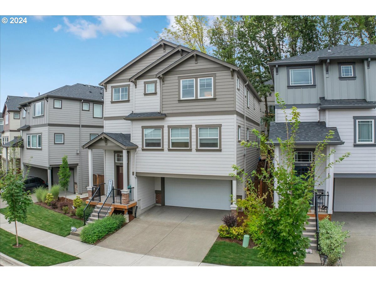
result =
[[334,212],[332,221],[344,221],[343,230],[349,230],[343,266],[376,266],[376,213]]

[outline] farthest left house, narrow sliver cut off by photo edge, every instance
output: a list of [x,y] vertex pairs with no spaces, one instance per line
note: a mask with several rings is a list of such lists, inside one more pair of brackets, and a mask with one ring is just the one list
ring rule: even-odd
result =
[[4,127],[1,131],[2,144],[2,167],[8,170],[10,167],[20,168],[20,149],[10,149],[12,147],[22,146],[17,138],[20,135],[20,109],[18,105],[31,97],[7,96],[2,119],[4,120]]

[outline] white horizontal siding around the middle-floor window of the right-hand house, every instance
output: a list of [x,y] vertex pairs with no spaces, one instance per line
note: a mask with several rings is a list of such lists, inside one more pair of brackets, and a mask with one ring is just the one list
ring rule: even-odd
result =
[[340,158],[344,153],[350,152],[339,164],[334,165],[334,173],[376,173],[376,146],[354,146],[354,116],[376,116],[376,109],[341,109],[329,111],[326,125],[337,127],[343,145],[334,146],[334,159]]

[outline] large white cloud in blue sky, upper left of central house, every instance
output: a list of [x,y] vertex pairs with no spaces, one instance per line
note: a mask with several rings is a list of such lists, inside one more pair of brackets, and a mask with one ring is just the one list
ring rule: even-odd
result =
[[82,39],[96,38],[98,32],[123,36],[127,32],[137,31],[136,24],[141,22],[141,17],[139,16],[98,16],[96,18],[98,20],[97,23],[83,19],[71,23],[67,17],[64,17],[66,31]]

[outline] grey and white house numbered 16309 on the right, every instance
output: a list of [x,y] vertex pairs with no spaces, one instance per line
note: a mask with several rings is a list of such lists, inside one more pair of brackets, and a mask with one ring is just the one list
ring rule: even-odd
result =
[[[331,49],[269,63],[274,89],[285,101],[287,112],[300,112],[296,139],[296,171],[302,174],[314,161],[314,148],[329,130],[326,154],[336,152],[329,161],[350,152],[333,168],[317,175],[329,175],[323,185],[327,212],[376,211],[376,45],[359,47],[338,45]],[[275,123],[269,138],[286,138],[285,118],[276,106]],[[276,144],[276,143],[274,143]],[[276,144],[277,145],[277,144]],[[276,146],[275,159],[280,158]],[[325,167],[325,164],[324,164]],[[274,195],[277,201],[277,195]]]

